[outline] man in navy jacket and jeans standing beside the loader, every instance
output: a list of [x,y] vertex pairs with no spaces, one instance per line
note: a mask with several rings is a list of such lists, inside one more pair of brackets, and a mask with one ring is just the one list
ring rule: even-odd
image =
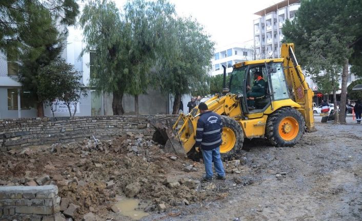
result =
[[220,144],[222,144],[221,133],[223,122],[217,113],[208,110],[207,105],[202,102],[198,105],[200,117],[197,120],[196,148],[200,147],[205,165],[206,174],[203,180],[210,181],[213,176],[212,162],[214,162],[217,179],[225,179],[225,171],[220,155]]

